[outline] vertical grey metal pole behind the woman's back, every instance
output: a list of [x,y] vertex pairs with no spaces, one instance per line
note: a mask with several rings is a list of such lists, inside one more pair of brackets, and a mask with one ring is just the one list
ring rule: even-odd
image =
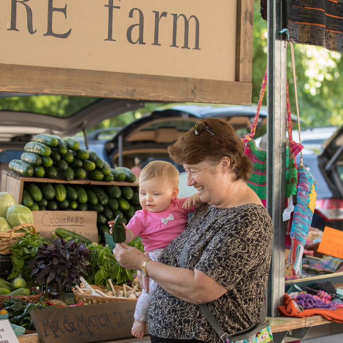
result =
[[286,27],[284,0],[268,0],[267,83],[267,209],[273,221],[274,240],[267,286],[267,316],[278,317],[285,294],[286,197],[286,74],[287,45],[279,31]]

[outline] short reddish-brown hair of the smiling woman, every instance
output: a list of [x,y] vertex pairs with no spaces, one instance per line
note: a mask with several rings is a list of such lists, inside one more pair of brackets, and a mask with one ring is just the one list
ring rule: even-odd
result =
[[219,164],[222,158],[227,156],[231,162],[230,168],[236,174],[236,180],[247,181],[251,164],[244,154],[243,142],[237,137],[235,129],[217,118],[202,119],[200,123],[208,126],[215,135],[206,129],[195,135],[192,128],[168,147],[172,160],[177,164],[197,164],[203,161]]

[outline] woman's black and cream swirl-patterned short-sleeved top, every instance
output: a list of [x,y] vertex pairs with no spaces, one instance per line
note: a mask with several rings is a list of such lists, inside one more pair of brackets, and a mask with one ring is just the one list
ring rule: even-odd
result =
[[[160,256],[160,262],[180,267],[181,251],[190,239],[184,265],[200,270],[228,289],[207,303],[226,332],[259,321],[267,286],[272,248],[272,223],[261,205],[216,208],[205,204],[186,230]],[[199,307],[158,286],[148,312],[153,336],[178,340],[221,342]]]

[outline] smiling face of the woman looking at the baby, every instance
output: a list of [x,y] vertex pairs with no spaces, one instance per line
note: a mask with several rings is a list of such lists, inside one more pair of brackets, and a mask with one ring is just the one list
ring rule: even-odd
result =
[[226,198],[227,168],[221,163],[216,166],[206,161],[184,164],[183,168],[187,172],[187,185],[196,188],[200,200],[220,206]]

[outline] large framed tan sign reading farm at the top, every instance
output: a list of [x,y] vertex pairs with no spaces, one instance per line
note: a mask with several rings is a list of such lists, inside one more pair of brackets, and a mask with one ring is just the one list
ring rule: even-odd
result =
[[253,0],[0,3],[0,91],[251,103]]

